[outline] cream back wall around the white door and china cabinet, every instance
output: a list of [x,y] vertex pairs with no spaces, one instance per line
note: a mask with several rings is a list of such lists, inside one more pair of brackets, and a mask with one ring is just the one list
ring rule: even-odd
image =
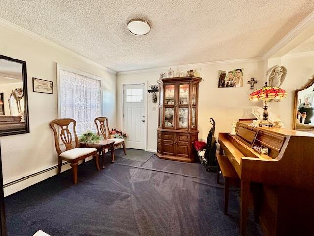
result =
[[[170,67],[170,66],[169,66]],[[179,66],[180,67],[180,66]],[[200,65],[189,65],[183,67],[185,70],[200,67]],[[172,67],[176,68],[176,67]],[[241,88],[218,88],[218,70],[232,70],[236,68],[244,68],[243,87]],[[117,75],[117,117],[122,127],[122,105],[123,105],[123,84],[130,83],[146,83],[148,85],[157,84],[159,74],[164,72],[163,68],[153,69],[153,71],[138,71],[136,73],[118,73]],[[199,87],[199,114],[198,129],[199,139],[205,139],[211,128],[209,118],[216,121],[215,134],[219,132],[230,132],[231,123],[239,118],[253,118],[250,113],[250,106],[261,105],[260,103],[252,103],[248,96],[253,91],[247,81],[254,77],[258,83],[254,88],[260,88],[264,82],[264,61],[248,60],[245,62],[221,62],[208,63],[201,66],[201,77],[203,81]],[[153,111],[153,107],[156,111]],[[147,149],[151,151],[157,150],[157,126],[158,126],[158,103],[152,103],[151,95],[148,95],[148,140]]]

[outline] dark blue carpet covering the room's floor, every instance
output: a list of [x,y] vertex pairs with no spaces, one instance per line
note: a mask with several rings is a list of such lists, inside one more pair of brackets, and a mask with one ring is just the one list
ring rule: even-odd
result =
[[[131,152],[132,150],[127,150]],[[107,154],[109,161],[110,155]],[[128,160],[97,171],[93,161],[5,198],[9,236],[237,236],[239,192],[230,191],[198,163]],[[223,182],[223,180],[221,181]],[[250,216],[248,235],[261,235]]]

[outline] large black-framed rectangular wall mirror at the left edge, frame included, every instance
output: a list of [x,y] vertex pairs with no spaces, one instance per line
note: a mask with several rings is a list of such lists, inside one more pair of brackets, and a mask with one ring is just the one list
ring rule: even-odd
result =
[[0,136],[29,133],[26,62],[0,55]]

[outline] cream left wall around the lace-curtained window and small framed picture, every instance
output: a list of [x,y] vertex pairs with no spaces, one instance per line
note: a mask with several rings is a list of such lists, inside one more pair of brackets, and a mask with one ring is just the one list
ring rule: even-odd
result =
[[[66,50],[0,25],[0,54],[26,61],[30,133],[1,137],[4,184],[57,164],[49,122],[58,118],[56,63],[103,78],[103,112],[116,121],[116,76]],[[32,77],[53,81],[54,94],[32,92]],[[65,167],[62,167],[66,169]],[[56,174],[56,170],[4,188],[5,195]],[[79,178],[79,177],[78,177]]]

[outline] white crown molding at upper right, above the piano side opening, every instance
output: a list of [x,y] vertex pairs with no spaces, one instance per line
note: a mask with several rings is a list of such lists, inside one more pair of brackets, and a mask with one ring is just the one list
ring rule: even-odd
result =
[[264,55],[263,59],[270,58],[274,53],[287,45],[292,39],[298,36],[304,29],[314,22],[314,11],[312,11],[306,18],[304,18],[296,27],[294,27],[286,36],[279,40],[270,50]]

